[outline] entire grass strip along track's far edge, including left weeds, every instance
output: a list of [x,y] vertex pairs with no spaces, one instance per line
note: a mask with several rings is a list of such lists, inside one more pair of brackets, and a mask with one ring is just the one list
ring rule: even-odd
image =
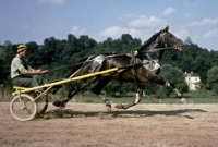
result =
[[[66,96],[66,94],[64,94]],[[61,94],[50,95],[49,101],[55,100],[61,100],[64,99],[65,96]],[[130,93],[128,96],[124,97],[111,97],[107,96],[111,102],[113,103],[129,103],[134,101],[135,94]],[[187,99],[189,103],[218,103],[218,95],[215,95],[211,91],[202,91],[202,93],[185,93],[183,94],[183,97]],[[0,94],[0,102],[10,102],[12,100],[12,96],[8,93],[4,93],[3,95]],[[90,91],[86,91],[83,94],[77,94],[73,97],[71,102],[84,102],[84,103],[104,103],[102,99],[98,96],[94,95]],[[173,94],[169,98],[164,99],[157,99],[157,98],[150,98],[148,96],[143,96],[141,103],[179,103],[180,99],[177,98]]]

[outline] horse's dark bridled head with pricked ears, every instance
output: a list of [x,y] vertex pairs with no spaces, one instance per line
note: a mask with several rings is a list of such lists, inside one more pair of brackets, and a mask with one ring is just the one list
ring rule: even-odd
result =
[[162,48],[182,50],[184,44],[181,39],[178,39],[173,34],[169,33],[169,26],[159,32],[159,41]]

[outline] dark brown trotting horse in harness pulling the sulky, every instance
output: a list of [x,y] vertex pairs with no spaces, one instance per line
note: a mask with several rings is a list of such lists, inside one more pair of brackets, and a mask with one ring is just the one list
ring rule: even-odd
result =
[[185,99],[182,98],[182,95],[175,88],[174,84],[158,76],[160,73],[159,62],[162,58],[164,51],[167,49],[181,51],[184,45],[182,40],[178,39],[173,34],[169,33],[169,27],[167,26],[162,30],[154,34],[133,53],[99,53],[85,58],[85,60],[83,60],[83,64],[78,64],[72,70],[70,77],[74,76],[78,71],[85,75],[112,68],[118,68],[118,70],[111,73],[82,79],[77,86],[71,87],[66,99],[62,101],[57,100],[53,102],[53,106],[65,107],[68,101],[71,100],[74,95],[82,91],[90,84],[97,82],[92,91],[100,97],[106,103],[106,109],[111,111],[110,100],[104,94],[101,94],[102,88],[111,79],[136,83],[137,85],[135,100],[126,105],[118,103],[116,106],[117,109],[129,109],[130,107],[136,106],[141,101],[145,86],[149,83],[170,87],[177,97],[181,98],[181,101],[185,101]]

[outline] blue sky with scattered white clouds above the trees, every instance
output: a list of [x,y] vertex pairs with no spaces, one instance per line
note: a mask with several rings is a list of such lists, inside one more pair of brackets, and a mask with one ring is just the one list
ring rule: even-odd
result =
[[169,32],[218,50],[218,0],[0,0],[0,44],[88,35],[100,42],[122,34],[146,41]]

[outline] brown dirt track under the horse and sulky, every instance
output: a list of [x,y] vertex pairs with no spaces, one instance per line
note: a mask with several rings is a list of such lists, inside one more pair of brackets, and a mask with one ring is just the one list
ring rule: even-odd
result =
[[20,122],[0,103],[2,147],[217,147],[218,105],[49,105],[45,118]]

